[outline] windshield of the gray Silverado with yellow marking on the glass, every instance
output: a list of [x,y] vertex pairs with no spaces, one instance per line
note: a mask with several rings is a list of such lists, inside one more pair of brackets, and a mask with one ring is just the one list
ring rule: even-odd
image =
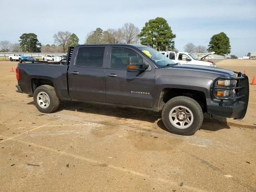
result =
[[175,64],[175,62],[168,57],[150,47],[139,47],[138,49],[148,56],[158,67],[166,66],[167,64]]

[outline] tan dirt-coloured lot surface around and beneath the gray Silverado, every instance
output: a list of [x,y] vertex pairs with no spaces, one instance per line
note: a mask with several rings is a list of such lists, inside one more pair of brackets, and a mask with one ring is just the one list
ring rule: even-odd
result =
[[[256,60],[219,67],[256,76]],[[0,192],[256,191],[256,85],[246,117],[205,115],[193,136],[160,113],[61,102],[42,114],[15,92],[17,62],[0,62]]]

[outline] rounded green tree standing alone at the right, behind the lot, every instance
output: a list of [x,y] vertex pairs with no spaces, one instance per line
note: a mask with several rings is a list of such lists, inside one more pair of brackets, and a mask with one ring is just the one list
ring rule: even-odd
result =
[[228,36],[221,32],[212,36],[209,45],[208,51],[214,51],[218,55],[229,54],[231,50],[230,42]]

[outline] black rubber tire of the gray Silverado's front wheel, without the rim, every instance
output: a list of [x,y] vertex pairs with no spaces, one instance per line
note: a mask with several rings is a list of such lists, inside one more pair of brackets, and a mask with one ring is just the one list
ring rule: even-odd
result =
[[[186,123],[185,126],[188,126],[187,128],[177,128],[176,126],[181,126],[182,121],[179,121],[178,124],[176,124],[176,126],[174,126],[173,124],[175,124],[174,120],[175,117],[171,117],[172,118],[172,122],[170,121],[169,118],[169,114],[171,112],[171,110],[173,110],[176,106],[184,106],[186,108],[188,108],[191,112],[192,112],[192,117],[193,117],[193,121],[191,122],[191,125],[188,126],[189,124]],[[182,108],[179,108],[182,109]],[[178,112],[180,112],[179,110],[177,110]],[[186,112],[188,112],[188,110],[186,110]],[[177,112],[176,112],[177,113]],[[188,112],[189,114],[189,112]],[[177,120],[178,120],[178,114],[174,116],[177,116]],[[187,116],[186,116],[187,117]],[[190,117],[191,119],[191,117]],[[189,98],[189,97],[185,97],[185,96],[178,96],[178,97],[174,97],[172,99],[170,99],[165,105],[164,108],[162,110],[162,120],[164,122],[164,125],[166,126],[166,128],[174,133],[174,134],[179,134],[179,135],[193,135],[202,125],[204,116],[203,116],[203,111],[201,106],[198,104],[198,102],[196,102],[196,100]],[[172,124],[173,123],[173,124]]]

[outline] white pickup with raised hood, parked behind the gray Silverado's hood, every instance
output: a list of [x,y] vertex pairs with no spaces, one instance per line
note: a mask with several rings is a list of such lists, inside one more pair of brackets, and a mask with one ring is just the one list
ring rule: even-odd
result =
[[203,65],[203,66],[212,66],[216,67],[212,61],[203,61],[202,59],[210,54],[214,54],[215,52],[211,52],[206,54],[200,58],[197,58],[192,53],[188,52],[174,52],[174,51],[160,51],[160,53],[164,54],[166,57],[170,58],[176,63],[180,64],[191,64],[191,65]]

